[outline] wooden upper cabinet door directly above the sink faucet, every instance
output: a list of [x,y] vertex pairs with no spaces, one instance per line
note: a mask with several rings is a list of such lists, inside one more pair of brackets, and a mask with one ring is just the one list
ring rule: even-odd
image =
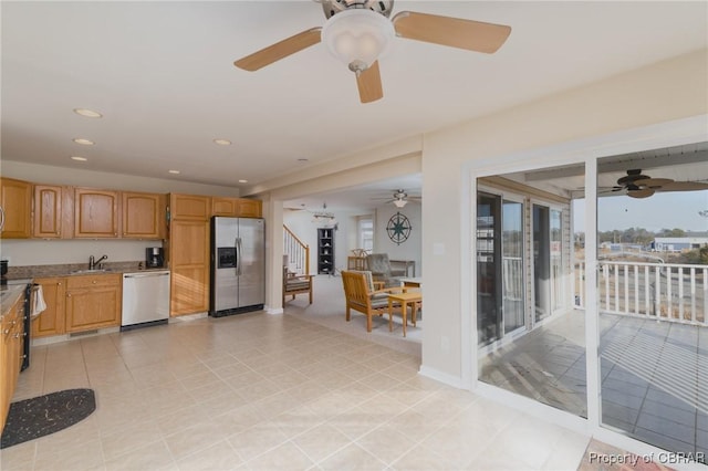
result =
[[118,192],[74,190],[74,238],[118,237]]

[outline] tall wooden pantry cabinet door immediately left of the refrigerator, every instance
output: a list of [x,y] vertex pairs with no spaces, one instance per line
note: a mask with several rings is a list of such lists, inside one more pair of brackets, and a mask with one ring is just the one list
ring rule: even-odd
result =
[[170,315],[201,313],[209,308],[209,222],[171,221]]

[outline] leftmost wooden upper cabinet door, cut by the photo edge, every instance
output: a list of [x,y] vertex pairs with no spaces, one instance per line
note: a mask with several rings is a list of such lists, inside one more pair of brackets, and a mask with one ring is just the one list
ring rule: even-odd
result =
[[32,236],[32,184],[0,178],[0,236],[3,239]]

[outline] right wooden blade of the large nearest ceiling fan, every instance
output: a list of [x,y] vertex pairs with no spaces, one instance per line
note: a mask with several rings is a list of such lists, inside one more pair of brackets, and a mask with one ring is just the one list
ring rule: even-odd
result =
[[402,11],[392,19],[400,38],[491,54],[507,41],[511,27],[461,18]]

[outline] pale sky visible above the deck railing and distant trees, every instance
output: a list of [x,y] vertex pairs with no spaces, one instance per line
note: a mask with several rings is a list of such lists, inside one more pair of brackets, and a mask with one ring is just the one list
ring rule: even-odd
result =
[[[600,198],[597,229],[601,232],[643,228],[652,232],[662,229],[708,231],[708,218],[698,211],[708,210],[708,190],[657,192],[649,198],[627,196]],[[573,232],[584,232],[585,200],[573,201]]]

